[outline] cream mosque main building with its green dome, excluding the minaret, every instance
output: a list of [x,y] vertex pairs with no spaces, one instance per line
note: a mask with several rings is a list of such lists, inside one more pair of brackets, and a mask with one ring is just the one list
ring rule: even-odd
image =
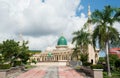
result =
[[58,39],[57,45],[55,49],[51,49],[48,47],[45,52],[40,54],[36,54],[33,58],[37,61],[41,62],[56,62],[56,61],[68,61],[71,59],[71,55],[73,53],[73,48],[67,45],[67,40],[64,36],[61,36]]

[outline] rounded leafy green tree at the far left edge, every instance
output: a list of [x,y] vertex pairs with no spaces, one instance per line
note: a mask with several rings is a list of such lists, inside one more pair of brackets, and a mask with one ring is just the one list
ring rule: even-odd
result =
[[13,63],[15,56],[20,52],[19,42],[15,42],[14,40],[6,40],[3,41],[1,45],[1,53],[4,57],[5,62]]

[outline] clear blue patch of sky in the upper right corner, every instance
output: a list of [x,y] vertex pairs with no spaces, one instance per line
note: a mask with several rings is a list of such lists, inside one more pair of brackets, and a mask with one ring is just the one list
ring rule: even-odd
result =
[[[104,6],[111,5],[112,7],[120,7],[120,0],[81,0],[81,5],[84,8],[87,8],[88,5],[91,6],[91,12],[96,9],[102,10]],[[87,14],[87,9],[83,9],[80,12],[83,12],[85,15]],[[78,13],[79,15],[80,13]]]

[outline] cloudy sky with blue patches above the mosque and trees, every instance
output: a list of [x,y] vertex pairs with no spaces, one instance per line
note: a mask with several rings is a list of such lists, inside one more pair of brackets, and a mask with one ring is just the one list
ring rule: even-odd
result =
[[[91,11],[108,4],[120,7],[120,1],[112,1],[0,0],[0,42],[19,40],[22,33],[30,49],[45,50],[55,46],[63,33],[70,44],[72,32],[81,29],[87,20],[87,5],[91,5]],[[115,23],[115,27],[118,26],[119,23]]]

